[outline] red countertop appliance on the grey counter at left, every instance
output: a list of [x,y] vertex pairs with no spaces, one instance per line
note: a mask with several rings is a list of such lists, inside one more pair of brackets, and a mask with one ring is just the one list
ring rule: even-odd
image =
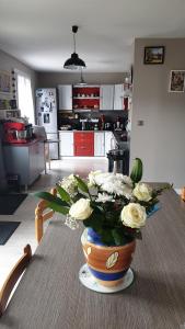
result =
[[27,143],[32,137],[28,135],[27,126],[20,122],[5,122],[4,128],[4,141],[11,144]]

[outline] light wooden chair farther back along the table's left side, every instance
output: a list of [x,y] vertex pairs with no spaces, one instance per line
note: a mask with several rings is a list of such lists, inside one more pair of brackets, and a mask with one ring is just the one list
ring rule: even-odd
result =
[[[50,194],[56,195],[57,190],[51,189]],[[37,242],[39,243],[43,234],[44,234],[44,223],[47,219],[53,218],[55,212],[51,209],[48,209],[47,201],[42,200],[38,202],[36,209],[35,209],[35,237]]]

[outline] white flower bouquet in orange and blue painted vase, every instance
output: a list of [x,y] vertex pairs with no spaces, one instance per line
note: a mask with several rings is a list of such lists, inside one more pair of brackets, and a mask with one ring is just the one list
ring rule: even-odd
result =
[[122,283],[136,239],[141,239],[147,217],[158,209],[158,195],[169,188],[152,189],[140,182],[141,178],[142,161],[136,158],[130,177],[95,171],[83,180],[71,174],[57,184],[57,196],[36,193],[48,202],[48,207],[66,216],[70,228],[78,228],[80,222],[84,225],[84,256],[91,274],[101,285]]

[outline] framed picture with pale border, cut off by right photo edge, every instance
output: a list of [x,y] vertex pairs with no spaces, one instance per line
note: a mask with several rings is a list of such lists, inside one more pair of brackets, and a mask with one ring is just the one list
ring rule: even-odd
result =
[[170,75],[170,92],[184,92],[185,70],[172,70]]

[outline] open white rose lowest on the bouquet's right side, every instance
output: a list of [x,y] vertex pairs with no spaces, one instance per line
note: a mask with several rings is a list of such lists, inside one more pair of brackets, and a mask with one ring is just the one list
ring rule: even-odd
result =
[[140,228],[141,226],[144,226],[146,218],[146,208],[139,203],[129,203],[120,213],[123,224],[131,228]]

